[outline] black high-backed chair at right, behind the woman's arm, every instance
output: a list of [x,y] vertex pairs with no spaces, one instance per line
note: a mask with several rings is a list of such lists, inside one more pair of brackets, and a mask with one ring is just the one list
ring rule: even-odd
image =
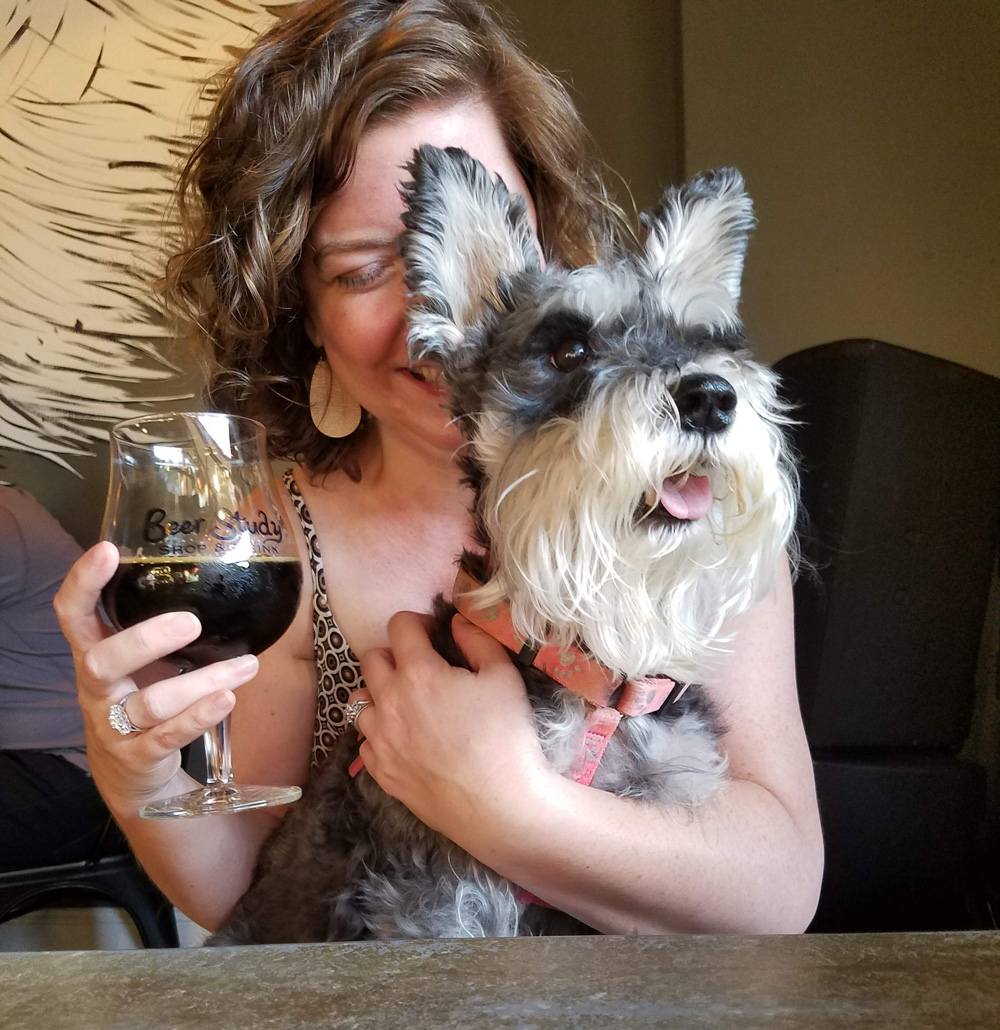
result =
[[1000,379],[876,340],[774,368],[816,569],[795,584],[827,857],[812,929],[996,928],[998,816],[958,755],[1000,547]]

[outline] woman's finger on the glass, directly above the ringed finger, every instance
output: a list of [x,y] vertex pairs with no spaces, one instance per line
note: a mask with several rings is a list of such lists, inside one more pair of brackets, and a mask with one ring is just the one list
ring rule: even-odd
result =
[[111,633],[83,654],[84,677],[82,682],[77,680],[77,686],[99,697],[112,697],[120,692],[122,680],[191,644],[200,632],[196,615],[167,612]]

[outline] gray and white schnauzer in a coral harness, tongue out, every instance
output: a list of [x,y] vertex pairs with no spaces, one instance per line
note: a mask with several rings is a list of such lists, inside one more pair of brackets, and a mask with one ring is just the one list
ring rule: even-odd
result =
[[[548,760],[694,809],[724,788],[698,686],[725,620],[794,551],[777,377],[737,317],[751,201],[721,170],[668,190],[635,252],[543,267],[523,198],[420,147],[403,195],[411,365],[443,379],[482,553],[453,600],[521,664]],[[465,665],[439,598],[435,647]],[[594,932],[421,824],[353,730],[265,845],[212,945]]]

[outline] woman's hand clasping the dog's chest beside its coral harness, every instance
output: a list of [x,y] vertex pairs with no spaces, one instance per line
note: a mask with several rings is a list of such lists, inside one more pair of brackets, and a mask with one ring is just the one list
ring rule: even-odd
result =
[[365,767],[386,793],[455,839],[470,822],[523,803],[533,778],[549,775],[520,674],[503,645],[460,615],[455,643],[472,671],[433,648],[422,616],[389,620],[389,647],[361,657],[372,705],[357,717]]

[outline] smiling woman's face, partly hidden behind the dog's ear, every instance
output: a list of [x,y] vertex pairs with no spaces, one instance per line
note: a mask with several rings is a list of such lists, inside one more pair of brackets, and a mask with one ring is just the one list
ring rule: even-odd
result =
[[467,101],[420,107],[370,130],[351,177],[322,207],[303,255],[306,331],[331,369],[376,419],[383,441],[451,452],[460,443],[443,397],[408,368],[406,286],[398,239],[404,210],[399,185],[421,143],[458,146],[501,176],[512,193],[527,186],[492,112]]

